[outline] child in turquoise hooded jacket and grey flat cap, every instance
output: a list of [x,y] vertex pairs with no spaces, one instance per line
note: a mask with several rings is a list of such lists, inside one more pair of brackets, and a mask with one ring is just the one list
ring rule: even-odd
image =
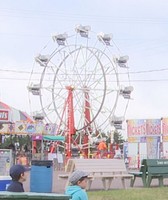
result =
[[85,191],[88,173],[76,170],[69,177],[70,185],[67,186],[65,194],[71,195],[72,200],[88,200]]

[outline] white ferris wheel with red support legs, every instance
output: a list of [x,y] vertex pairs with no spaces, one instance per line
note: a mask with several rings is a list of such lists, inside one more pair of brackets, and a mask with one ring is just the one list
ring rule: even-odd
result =
[[133,88],[128,56],[120,55],[112,35],[78,25],[52,39],[35,57],[28,86],[34,116],[56,124],[58,133],[72,129],[80,144],[82,135],[121,128]]

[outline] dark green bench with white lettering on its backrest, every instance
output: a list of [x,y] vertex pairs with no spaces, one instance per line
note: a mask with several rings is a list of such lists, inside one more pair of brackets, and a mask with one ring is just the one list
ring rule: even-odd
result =
[[159,186],[163,186],[164,178],[168,178],[168,159],[143,159],[140,171],[129,173],[134,176],[131,187],[137,177],[142,178],[144,187],[150,187],[153,179],[158,179]]

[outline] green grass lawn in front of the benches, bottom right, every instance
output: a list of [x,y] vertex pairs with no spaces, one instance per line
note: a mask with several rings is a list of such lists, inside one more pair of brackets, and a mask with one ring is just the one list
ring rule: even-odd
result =
[[88,191],[89,200],[168,200],[168,187]]

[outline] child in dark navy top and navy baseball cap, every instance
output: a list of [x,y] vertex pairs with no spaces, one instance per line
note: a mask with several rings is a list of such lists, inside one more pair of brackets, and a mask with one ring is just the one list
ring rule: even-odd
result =
[[25,168],[23,165],[13,165],[9,174],[12,178],[12,182],[7,187],[7,191],[9,192],[24,192],[23,182],[26,181],[27,175],[26,171],[29,169]]

